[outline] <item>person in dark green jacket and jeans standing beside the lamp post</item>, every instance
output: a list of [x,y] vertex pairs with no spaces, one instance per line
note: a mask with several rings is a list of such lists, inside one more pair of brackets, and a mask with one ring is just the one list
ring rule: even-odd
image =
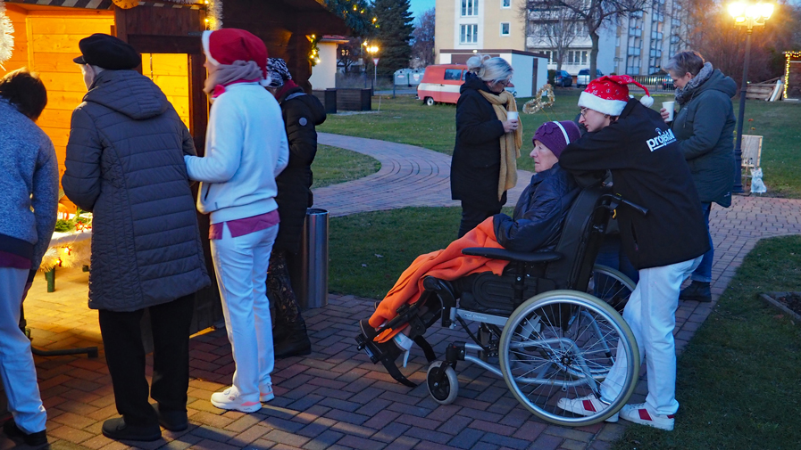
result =
[[[704,208],[706,227],[712,203],[723,208],[731,205],[734,185],[734,110],[731,97],[737,93],[737,83],[715,70],[697,52],[682,52],[665,65],[676,85],[676,102],[681,110],[672,123],[673,134],[684,153],[693,182],[696,184],[701,206]],[[662,110],[667,121],[669,112]],[[692,283],[681,290],[682,300],[712,301],[709,283],[712,282],[714,249],[709,237],[709,251],[693,272]]]

